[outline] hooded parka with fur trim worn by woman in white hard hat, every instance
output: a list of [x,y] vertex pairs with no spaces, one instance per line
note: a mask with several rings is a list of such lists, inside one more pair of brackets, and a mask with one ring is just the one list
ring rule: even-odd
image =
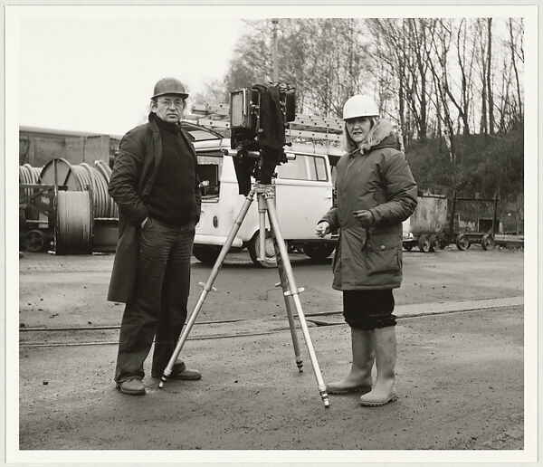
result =
[[[338,230],[334,281],[338,291],[394,289],[402,282],[402,222],[413,214],[416,185],[390,123],[378,120],[371,148],[342,156],[336,176],[337,205],[322,221]],[[369,210],[365,229],[353,215]]]

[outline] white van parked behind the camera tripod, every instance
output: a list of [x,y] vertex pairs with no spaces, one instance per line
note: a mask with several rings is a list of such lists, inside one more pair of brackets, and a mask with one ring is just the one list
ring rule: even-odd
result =
[[[194,255],[201,262],[213,264],[245,201],[233,167],[235,151],[230,139],[195,141],[198,176],[202,191],[202,215],[196,225]],[[276,167],[275,202],[281,234],[290,251],[303,248],[315,260],[333,252],[337,237],[320,239],[315,226],[332,205],[333,170],[342,151],[319,144],[293,143],[285,148],[289,162]],[[252,180],[254,182],[254,180]],[[266,217],[266,230],[270,225]],[[252,262],[275,267],[275,251],[267,237],[265,261],[260,257],[258,202],[256,196],[247,213],[231,251],[249,250]]]

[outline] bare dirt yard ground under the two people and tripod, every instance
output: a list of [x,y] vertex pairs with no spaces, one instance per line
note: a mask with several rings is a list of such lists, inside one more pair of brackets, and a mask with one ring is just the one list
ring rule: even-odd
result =
[[[170,381],[159,390],[146,376],[147,396],[121,395],[112,382],[116,346],[81,345],[115,342],[116,329],[22,331],[20,449],[362,450],[353,461],[366,450],[522,450],[522,252],[405,253],[405,283],[395,293],[403,310],[400,396],[379,408],[358,405],[356,395],[330,396],[330,408],[323,407],[300,329],[305,371],[294,364],[281,293],[273,288],[277,272],[255,270],[243,258],[224,265],[219,292],[199,318],[225,322],[195,326],[183,350],[202,371],[199,382]],[[26,255],[24,327],[119,324],[122,307],[104,301],[111,262],[112,256]],[[329,288],[329,263],[296,255],[292,263],[306,288],[304,311],[319,317],[310,335],[322,375],[338,378],[350,362],[349,331],[327,313],[341,307]],[[209,268],[196,263],[193,271],[194,302],[196,282]],[[499,300],[489,308],[483,299]],[[471,311],[456,306],[413,316],[416,304],[441,312],[467,300]],[[477,310],[473,303],[487,305]],[[49,347],[55,343],[62,345]]]

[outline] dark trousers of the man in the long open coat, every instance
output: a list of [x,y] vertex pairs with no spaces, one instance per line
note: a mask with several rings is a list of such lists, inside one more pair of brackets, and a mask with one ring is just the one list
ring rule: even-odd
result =
[[152,373],[162,374],[186,319],[195,224],[180,227],[149,219],[139,238],[138,274],[120,325],[115,381],[143,378],[156,336]]

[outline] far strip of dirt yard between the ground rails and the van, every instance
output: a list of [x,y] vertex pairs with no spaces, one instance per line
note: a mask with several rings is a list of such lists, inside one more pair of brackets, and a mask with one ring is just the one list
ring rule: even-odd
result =
[[[331,288],[331,260],[315,264],[291,255],[306,312],[341,310],[341,294]],[[20,260],[20,321],[26,327],[119,324],[123,306],[105,300],[113,255],[54,256],[24,253]],[[397,305],[448,300],[481,300],[523,294],[523,252],[467,252],[447,247],[436,253],[404,252],[404,282]],[[211,268],[194,260],[189,310],[194,308]],[[199,320],[264,319],[284,315],[276,270],[256,269],[246,252],[230,254],[217,276]]]

